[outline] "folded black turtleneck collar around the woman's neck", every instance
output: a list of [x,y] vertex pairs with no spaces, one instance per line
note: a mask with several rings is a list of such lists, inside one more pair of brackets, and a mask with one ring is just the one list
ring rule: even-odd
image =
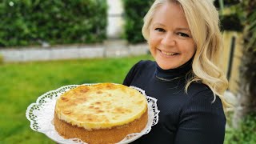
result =
[[182,66],[178,66],[175,69],[169,69],[169,70],[163,70],[160,66],[157,65],[157,69],[155,72],[156,78],[162,81],[173,81],[174,79],[179,79],[179,78],[185,78],[186,74],[190,70],[192,70],[192,61],[193,58],[191,58],[188,62],[183,64]]

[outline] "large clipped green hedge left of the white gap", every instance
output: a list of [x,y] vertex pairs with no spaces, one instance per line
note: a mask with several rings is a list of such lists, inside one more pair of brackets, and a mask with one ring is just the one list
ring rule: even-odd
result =
[[102,42],[106,0],[2,0],[0,46]]

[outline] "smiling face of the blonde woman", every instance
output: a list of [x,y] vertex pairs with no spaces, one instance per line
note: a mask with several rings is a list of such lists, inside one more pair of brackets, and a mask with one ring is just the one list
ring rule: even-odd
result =
[[182,66],[193,57],[196,46],[181,6],[159,6],[150,23],[150,52],[163,70]]

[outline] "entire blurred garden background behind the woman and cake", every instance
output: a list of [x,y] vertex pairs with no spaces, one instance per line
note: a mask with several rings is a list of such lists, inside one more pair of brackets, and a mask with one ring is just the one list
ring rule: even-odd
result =
[[[122,83],[150,57],[142,18],[154,0],[0,1],[0,143],[54,143],[26,108],[61,86]],[[224,41],[225,143],[256,143],[256,0],[213,0]]]

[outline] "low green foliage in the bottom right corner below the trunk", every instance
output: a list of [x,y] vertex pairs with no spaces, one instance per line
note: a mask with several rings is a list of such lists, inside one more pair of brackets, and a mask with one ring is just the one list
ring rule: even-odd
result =
[[226,130],[226,144],[256,143],[256,113],[248,114],[238,129]]

